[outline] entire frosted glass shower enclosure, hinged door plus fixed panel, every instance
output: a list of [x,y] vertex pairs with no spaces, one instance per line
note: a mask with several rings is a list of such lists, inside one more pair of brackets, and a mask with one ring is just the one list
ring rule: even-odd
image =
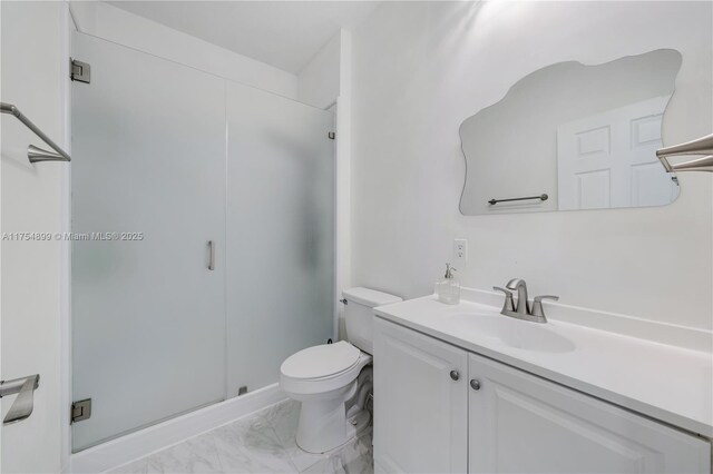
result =
[[333,118],[91,36],[72,56],[75,452],[268,386],[333,334]]

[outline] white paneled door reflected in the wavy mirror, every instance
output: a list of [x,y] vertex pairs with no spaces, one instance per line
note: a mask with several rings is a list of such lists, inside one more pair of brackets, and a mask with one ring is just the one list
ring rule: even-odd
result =
[[678,196],[655,150],[671,96],[655,97],[557,128],[559,210],[663,206]]

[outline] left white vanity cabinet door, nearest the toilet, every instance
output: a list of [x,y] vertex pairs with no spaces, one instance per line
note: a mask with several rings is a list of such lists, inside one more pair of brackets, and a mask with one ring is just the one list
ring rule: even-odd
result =
[[468,357],[374,318],[374,467],[457,473],[468,464]]

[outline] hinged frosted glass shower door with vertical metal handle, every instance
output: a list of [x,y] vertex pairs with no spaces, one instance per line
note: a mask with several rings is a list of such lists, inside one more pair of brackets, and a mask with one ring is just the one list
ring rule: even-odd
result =
[[225,397],[225,82],[80,33],[72,56],[79,451]]

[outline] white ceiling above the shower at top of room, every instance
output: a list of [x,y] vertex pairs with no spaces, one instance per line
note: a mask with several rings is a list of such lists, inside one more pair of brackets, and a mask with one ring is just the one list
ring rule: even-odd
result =
[[109,1],[205,41],[297,73],[378,1]]

